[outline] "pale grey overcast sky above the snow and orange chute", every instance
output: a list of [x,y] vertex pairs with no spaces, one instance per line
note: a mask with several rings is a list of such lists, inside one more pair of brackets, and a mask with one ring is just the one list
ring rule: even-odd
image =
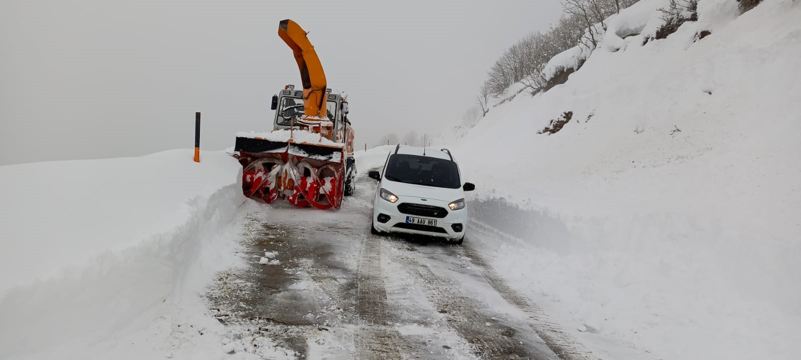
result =
[[2,0],[0,165],[191,147],[195,111],[203,149],[268,130],[272,94],[300,85],[284,18],[310,32],[328,87],[348,91],[357,147],[434,133],[559,14],[558,0]]

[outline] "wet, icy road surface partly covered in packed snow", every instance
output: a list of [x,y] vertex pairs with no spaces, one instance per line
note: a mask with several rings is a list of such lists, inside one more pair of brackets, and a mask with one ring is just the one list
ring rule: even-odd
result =
[[591,358],[489,268],[473,225],[464,246],[370,234],[375,182],[340,211],[251,214],[248,262],[207,294],[242,358]]

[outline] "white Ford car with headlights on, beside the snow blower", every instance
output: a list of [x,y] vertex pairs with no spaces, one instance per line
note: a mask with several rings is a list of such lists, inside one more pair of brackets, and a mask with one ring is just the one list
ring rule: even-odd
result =
[[465,191],[459,165],[447,149],[396,146],[378,180],[372,207],[372,234],[397,232],[447,238],[461,244],[467,227]]

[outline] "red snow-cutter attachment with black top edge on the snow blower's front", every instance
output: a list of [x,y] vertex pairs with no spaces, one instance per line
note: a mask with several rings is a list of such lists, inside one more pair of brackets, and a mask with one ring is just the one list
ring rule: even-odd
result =
[[[302,130],[296,130],[302,131]],[[319,135],[318,135],[319,136]],[[270,141],[237,137],[242,189],[249,198],[294,206],[339,209],[344,191],[344,144]]]

